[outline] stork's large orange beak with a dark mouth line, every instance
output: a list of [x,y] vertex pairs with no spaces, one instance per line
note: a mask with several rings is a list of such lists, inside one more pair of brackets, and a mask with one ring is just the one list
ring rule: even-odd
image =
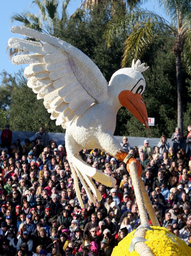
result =
[[143,97],[139,93],[132,93],[132,91],[122,91],[119,93],[119,102],[123,107],[126,107],[131,114],[134,115],[141,123],[148,128],[148,115]]

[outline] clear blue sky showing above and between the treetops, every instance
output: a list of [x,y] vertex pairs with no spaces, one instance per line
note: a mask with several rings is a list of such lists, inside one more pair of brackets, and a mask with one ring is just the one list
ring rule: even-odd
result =
[[[13,25],[19,25],[16,22],[14,24],[11,24],[10,17],[13,15],[13,13],[22,13],[23,11],[30,11],[31,13],[37,13],[38,9],[34,5],[31,6],[31,0],[7,0],[7,1],[1,1],[1,16],[0,16],[0,27],[1,27],[1,41],[0,41],[0,51],[1,51],[1,62],[0,62],[0,71],[5,69],[8,73],[14,74],[14,72],[17,72],[21,65],[13,65],[11,60],[8,57],[8,54],[6,54],[6,45],[7,41],[11,37],[17,37],[17,35],[13,35],[10,32],[10,29]],[[61,0],[60,0],[61,2]],[[81,0],[71,0],[68,6],[68,13],[71,15],[74,13],[76,8],[80,5]],[[160,9],[157,1],[155,0],[148,0],[145,4],[141,6],[144,9],[153,10],[163,16],[164,11]],[[23,66],[24,68],[25,66]]]

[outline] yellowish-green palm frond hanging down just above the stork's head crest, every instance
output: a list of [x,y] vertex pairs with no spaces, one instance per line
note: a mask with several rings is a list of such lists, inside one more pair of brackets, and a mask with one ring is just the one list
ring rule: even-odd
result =
[[126,67],[132,59],[140,58],[158,35],[156,24],[151,21],[135,26],[124,43],[121,67]]

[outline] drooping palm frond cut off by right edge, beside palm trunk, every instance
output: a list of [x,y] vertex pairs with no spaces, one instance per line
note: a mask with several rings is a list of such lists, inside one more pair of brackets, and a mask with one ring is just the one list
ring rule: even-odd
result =
[[185,35],[184,45],[182,50],[182,62],[186,68],[186,72],[191,75],[191,31]]

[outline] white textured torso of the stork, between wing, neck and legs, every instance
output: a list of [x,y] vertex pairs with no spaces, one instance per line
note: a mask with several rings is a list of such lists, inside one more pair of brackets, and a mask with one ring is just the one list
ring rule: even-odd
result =
[[[73,122],[66,123],[67,152],[77,154],[81,149],[99,148],[114,156],[122,150],[121,145],[113,136],[116,115],[120,107],[119,101],[114,102],[107,98],[102,103],[96,103],[93,108]],[[71,148],[72,145],[73,148]]]

